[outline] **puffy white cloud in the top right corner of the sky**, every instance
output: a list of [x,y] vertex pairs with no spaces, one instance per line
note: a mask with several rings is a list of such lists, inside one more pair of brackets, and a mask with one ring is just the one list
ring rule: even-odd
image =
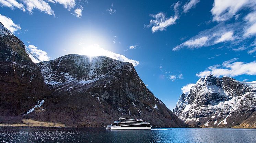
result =
[[225,21],[244,8],[254,8],[255,0],[214,0],[211,13],[213,21]]

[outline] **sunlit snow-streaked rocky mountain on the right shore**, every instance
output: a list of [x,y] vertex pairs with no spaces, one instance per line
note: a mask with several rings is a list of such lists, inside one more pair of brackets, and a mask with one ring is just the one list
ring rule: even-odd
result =
[[180,96],[173,113],[189,125],[255,128],[256,81],[200,78]]

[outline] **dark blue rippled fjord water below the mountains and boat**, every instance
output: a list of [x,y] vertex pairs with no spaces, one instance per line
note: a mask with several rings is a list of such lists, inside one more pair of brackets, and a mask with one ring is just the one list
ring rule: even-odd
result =
[[2,128],[0,142],[256,142],[256,129],[152,128]]

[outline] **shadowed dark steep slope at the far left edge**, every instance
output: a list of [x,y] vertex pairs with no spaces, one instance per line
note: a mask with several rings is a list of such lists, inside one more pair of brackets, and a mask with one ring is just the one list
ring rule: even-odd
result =
[[25,45],[0,23],[0,122],[19,122],[47,91]]

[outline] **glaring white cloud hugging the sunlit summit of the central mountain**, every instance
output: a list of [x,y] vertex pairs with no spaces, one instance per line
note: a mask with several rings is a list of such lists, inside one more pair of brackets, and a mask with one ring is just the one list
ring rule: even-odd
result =
[[97,45],[97,44],[80,48],[80,51],[78,51],[75,54],[88,55],[88,56],[107,56],[112,59],[116,59],[124,62],[130,62],[134,67],[138,66],[140,63],[139,61],[129,59],[124,55],[120,55],[120,54],[105,50],[101,48],[100,45]]

